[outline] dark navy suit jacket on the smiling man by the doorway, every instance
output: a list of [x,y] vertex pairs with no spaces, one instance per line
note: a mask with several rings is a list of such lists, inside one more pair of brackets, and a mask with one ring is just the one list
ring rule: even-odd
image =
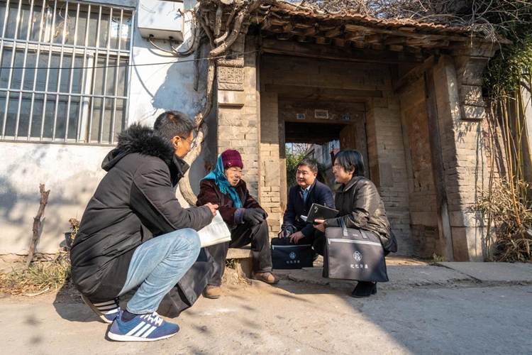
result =
[[292,225],[298,231],[301,231],[304,236],[311,236],[315,230],[314,226],[304,222],[301,219],[301,215],[309,215],[310,207],[313,203],[334,208],[333,192],[327,185],[322,184],[318,180],[314,180],[309,190],[309,196],[306,197],[306,202],[303,202],[301,187],[299,185],[290,187],[287,210],[284,211],[281,228],[284,230],[287,226]]

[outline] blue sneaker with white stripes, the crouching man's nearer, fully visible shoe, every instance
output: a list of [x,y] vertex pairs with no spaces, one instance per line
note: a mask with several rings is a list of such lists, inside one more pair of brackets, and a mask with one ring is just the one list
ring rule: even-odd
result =
[[137,315],[129,322],[123,322],[122,315],[123,310],[118,313],[107,333],[109,339],[117,342],[154,342],[179,332],[179,325],[166,322],[157,312]]

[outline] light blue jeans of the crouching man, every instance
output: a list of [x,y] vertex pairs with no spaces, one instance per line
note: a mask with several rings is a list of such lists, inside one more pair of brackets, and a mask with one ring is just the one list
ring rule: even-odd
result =
[[135,249],[128,277],[119,295],[140,285],[126,309],[136,315],[152,313],[198,258],[199,236],[185,228],[162,234]]

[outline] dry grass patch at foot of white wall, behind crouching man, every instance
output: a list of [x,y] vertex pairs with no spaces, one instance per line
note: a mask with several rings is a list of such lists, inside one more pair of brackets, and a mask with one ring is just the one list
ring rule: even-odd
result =
[[0,275],[0,292],[39,295],[57,290],[70,280],[70,260],[61,253],[54,261],[33,263],[28,270],[15,270]]

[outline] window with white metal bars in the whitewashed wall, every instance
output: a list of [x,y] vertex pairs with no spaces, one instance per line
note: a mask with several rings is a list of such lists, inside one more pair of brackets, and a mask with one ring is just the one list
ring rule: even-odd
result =
[[126,125],[133,10],[0,0],[0,140],[113,144]]

